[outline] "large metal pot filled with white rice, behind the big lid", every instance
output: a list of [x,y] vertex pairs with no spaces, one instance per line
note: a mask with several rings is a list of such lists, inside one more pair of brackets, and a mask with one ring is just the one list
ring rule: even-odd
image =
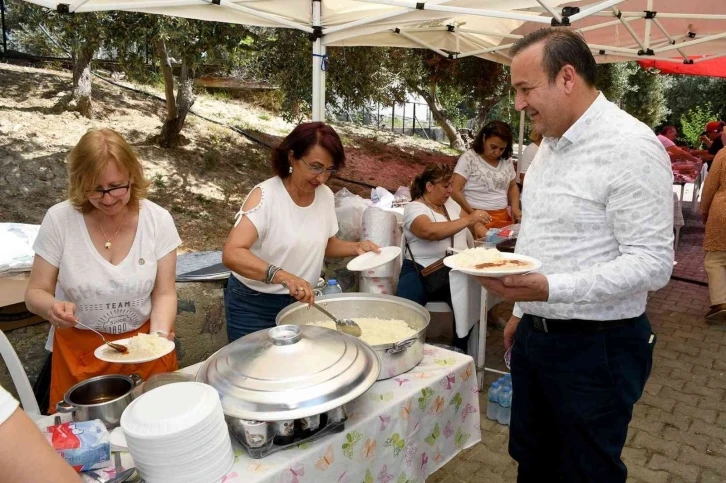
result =
[[[393,295],[342,293],[316,297],[330,313],[353,319],[363,332],[360,340],[370,345],[381,364],[378,380],[389,379],[413,369],[423,359],[426,328],[431,317],[415,302]],[[295,303],[283,309],[277,325],[317,325],[335,328],[318,311]]]

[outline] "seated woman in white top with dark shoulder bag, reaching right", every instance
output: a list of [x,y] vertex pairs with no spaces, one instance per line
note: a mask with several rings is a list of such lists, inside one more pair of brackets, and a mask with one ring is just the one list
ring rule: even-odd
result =
[[[451,176],[451,166],[434,164],[427,167],[411,183],[413,201],[404,210],[406,250],[396,295],[420,305],[442,301],[451,306],[448,280],[439,290],[429,293],[421,271],[446,256],[449,247],[466,249],[466,228],[491,221],[489,214],[479,210],[460,217],[461,208],[450,199]],[[468,337],[457,337],[454,345],[466,352],[467,340]]]

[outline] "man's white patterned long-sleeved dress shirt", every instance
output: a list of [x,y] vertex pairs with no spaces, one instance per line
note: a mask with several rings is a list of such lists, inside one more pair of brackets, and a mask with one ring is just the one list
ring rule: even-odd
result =
[[645,312],[673,270],[673,173],[655,134],[600,94],[527,171],[517,253],[542,261],[547,302],[514,314],[614,320]]

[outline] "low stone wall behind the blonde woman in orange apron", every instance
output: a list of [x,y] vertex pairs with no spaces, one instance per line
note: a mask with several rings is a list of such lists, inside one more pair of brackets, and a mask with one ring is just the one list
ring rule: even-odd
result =
[[[203,361],[227,343],[223,286],[224,281],[177,283],[179,305],[175,330],[179,367]],[[48,354],[44,349],[48,328],[44,323],[5,334],[18,353],[31,384],[37,379]],[[2,361],[0,386],[17,396]]]

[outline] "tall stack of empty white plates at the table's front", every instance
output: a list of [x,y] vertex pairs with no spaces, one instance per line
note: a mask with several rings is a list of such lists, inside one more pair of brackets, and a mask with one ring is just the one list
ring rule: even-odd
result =
[[234,463],[217,391],[198,382],[158,387],[121,416],[126,444],[147,483],[218,483]]

